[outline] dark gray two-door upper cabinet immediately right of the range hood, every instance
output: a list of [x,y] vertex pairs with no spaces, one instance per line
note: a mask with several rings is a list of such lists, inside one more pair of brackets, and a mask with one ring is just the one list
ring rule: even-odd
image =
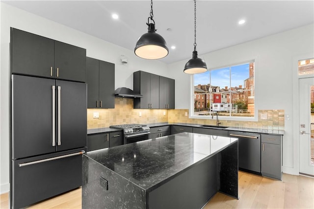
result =
[[134,98],[134,109],[159,109],[159,75],[134,72],[133,90],[143,95],[143,98]]

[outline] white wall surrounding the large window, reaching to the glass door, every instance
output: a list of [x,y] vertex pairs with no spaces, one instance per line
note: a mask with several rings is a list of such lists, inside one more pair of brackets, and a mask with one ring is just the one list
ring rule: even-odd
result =
[[[201,55],[206,60],[208,68],[222,67],[227,64],[258,58],[256,66],[255,100],[260,110],[285,110],[285,136],[283,140],[283,171],[298,174],[297,152],[293,152],[293,80],[297,77],[293,69],[294,57],[301,54],[314,56],[314,25],[267,36],[262,39],[247,42]],[[190,76],[183,73],[187,60],[168,66],[176,79],[175,102],[176,109],[189,109]],[[289,119],[287,119],[287,115]]]

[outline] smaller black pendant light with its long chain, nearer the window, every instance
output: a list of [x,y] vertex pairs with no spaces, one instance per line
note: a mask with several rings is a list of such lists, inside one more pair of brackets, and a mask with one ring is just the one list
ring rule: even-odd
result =
[[207,71],[207,65],[205,61],[197,57],[196,51],[196,0],[194,0],[194,51],[192,59],[190,59],[184,67],[183,72],[187,74],[196,74]]

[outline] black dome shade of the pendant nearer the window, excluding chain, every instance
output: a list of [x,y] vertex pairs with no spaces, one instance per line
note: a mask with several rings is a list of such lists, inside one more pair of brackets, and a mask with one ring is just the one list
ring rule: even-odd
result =
[[184,66],[183,72],[187,74],[196,74],[207,71],[205,61],[197,57],[197,51],[193,51],[192,59],[190,59]]

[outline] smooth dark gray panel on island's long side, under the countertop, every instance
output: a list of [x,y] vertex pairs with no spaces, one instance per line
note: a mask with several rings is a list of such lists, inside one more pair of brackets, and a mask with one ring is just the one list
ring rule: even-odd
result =
[[149,209],[200,209],[218,191],[217,155],[148,194]]

